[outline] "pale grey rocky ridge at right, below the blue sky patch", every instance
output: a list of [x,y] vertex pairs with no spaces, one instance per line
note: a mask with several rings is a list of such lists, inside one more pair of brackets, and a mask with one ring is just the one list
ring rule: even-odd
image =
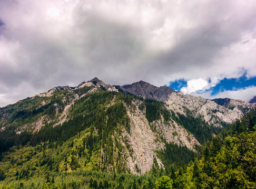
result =
[[[202,116],[206,122],[222,127],[221,122],[232,123],[240,119],[244,110],[255,107],[254,104],[241,100],[224,100],[219,102],[207,100],[202,97],[184,95],[182,92],[173,92],[166,101],[168,108],[174,112],[186,115],[186,110],[190,110],[193,116]],[[232,108],[230,108],[232,106]]]

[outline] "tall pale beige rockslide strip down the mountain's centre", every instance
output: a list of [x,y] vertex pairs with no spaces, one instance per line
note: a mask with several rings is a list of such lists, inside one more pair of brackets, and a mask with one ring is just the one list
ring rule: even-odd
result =
[[[135,169],[137,166],[140,173],[144,174],[152,169],[154,158],[157,158],[153,150],[163,150],[164,144],[156,142],[157,135],[152,132],[149,122],[139,108],[128,110],[127,114],[131,120],[131,132],[126,135],[133,149],[132,156],[127,158],[127,165],[131,173],[139,174]],[[159,166],[161,167],[161,163]]]

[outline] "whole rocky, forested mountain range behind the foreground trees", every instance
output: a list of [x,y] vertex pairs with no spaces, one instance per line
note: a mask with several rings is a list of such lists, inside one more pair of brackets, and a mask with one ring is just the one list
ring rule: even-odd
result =
[[111,86],[94,78],[54,87],[0,109],[0,173],[9,183],[45,172],[143,175],[178,169],[255,107],[220,101],[144,81]]

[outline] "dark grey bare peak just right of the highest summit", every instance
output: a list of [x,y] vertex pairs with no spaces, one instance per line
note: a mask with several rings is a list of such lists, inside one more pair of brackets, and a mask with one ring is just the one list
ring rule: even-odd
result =
[[124,85],[122,86],[122,89],[137,97],[143,97],[143,98],[147,97],[147,98],[161,100],[161,101],[168,99],[168,96],[172,92],[174,92],[174,90],[171,89],[170,87],[165,87],[165,86],[156,87],[144,81],[135,82],[135,83],[132,83],[131,85]]

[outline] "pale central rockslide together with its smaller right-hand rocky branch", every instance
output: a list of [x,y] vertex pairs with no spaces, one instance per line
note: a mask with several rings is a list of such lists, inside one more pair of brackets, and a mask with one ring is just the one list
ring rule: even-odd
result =
[[[194,150],[194,146],[199,142],[189,134],[183,127],[170,121],[168,124],[163,120],[156,120],[149,123],[145,117],[145,112],[139,109],[139,100],[133,101],[133,106],[126,108],[127,115],[131,120],[131,131],[123,132],[125,138],[128,139],[132,150],[132,155],[126,153],[127,166],[133,174],[144,174],[152,169],[154,158],[157,160],[159,167],[163,167],[160,159],[157,158],[154,150],[164,150],[165,145],[160,140],[163,137],[166,142],[187,146],[189,149]],[[152,131],[152,127],[157,132]],[[138,167],[140,173],[137,172],[135,167]]]

